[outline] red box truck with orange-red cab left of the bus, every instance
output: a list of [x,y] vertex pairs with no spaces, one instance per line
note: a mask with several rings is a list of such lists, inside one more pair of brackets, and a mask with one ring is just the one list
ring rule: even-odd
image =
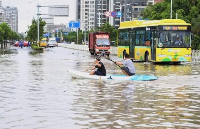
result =
[[110,55],[110,34],[107,32],[89,33],[89,51],[91,55]]

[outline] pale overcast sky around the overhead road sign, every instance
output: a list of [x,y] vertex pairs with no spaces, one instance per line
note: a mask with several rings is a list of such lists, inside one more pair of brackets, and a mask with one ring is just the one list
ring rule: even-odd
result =
[[[75,0],[1,0],[2,6],[12,6],[18,8],[18,31],[25,32],[28,30],[28,25],[34,18],[37,18],[37,4],[45,5],[69,5],[69,17],[67,18],[55,18],[54,24],[67,24],[71,20],[76,20],[75,10],[76,1]],[[47,14],[48,8],[41,7],[40,13]],[[45,17],[45,16],[41,16]]]

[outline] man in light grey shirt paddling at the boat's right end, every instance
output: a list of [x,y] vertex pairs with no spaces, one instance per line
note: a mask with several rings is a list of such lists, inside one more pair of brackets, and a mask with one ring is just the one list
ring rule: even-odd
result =
[[135,65],[133,63],[133,61],[129,58],[129,54],[126,53],[124,55],[125,59],[123,62],[117,62],[114,61],[114,63],[118,64],[118,65],[124,65],[125,67],[121,67],[122,72],[126,75],[126,76],[133,76],[135,75]]

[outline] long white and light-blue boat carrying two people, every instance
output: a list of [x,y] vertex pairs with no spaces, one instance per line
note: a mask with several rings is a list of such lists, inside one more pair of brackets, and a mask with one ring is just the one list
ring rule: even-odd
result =
[[80,72],[75,70],[68,70],[68,73],[72,78],[78,79],[97,79],[97,80],[116,80],[116,81],[153,81],[157,80],[158,77],[154,75],[107,75],[107,76],[97,76],[89,75],[88,72]]

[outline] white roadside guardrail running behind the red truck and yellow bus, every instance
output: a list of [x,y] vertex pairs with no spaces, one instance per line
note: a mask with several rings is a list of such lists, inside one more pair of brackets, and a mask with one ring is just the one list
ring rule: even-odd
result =
[[[81,51],[89,51],[88,45],[77,45],[77,44],[66,44],[61,43],[59,46],[81,50]],[[117,47],[111,46],[110,48],[110,54],[117,55]],[[192,50],[192,62],[193,63],[200,63],[200,50]]]

